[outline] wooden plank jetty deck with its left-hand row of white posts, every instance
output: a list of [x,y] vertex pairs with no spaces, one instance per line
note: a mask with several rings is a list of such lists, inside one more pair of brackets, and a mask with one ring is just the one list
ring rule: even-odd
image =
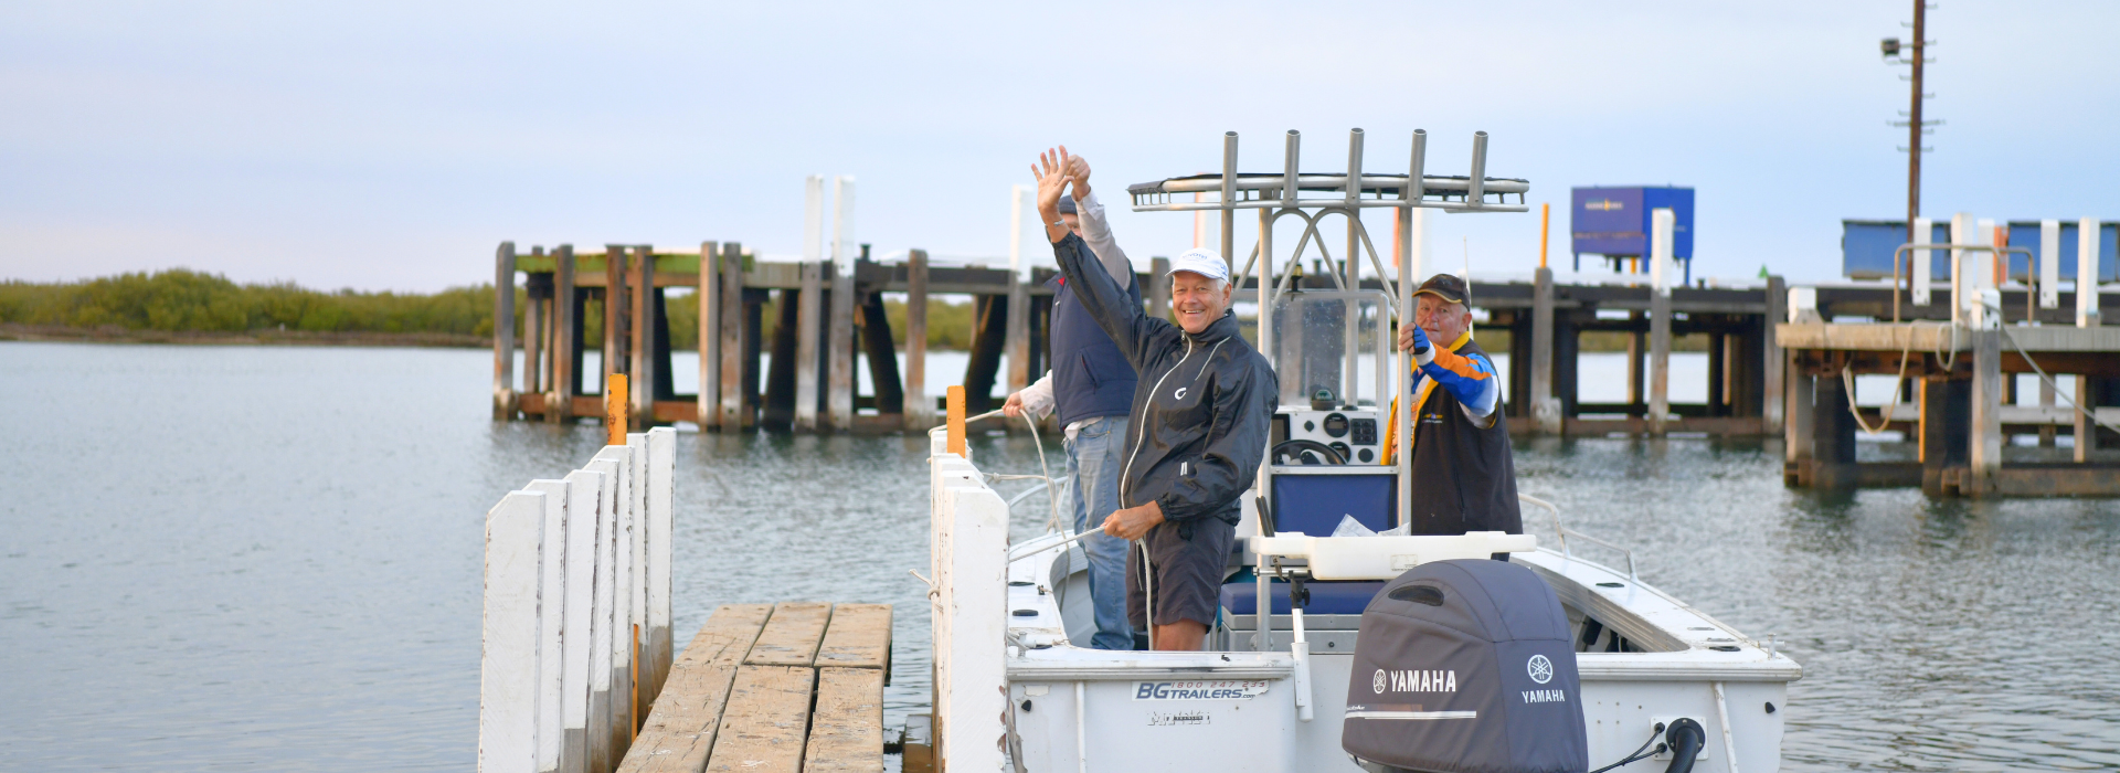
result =
[[674,652],[676,432],[613,426],[485,517],[479,771],[880,773],[890,606],[731,604]]

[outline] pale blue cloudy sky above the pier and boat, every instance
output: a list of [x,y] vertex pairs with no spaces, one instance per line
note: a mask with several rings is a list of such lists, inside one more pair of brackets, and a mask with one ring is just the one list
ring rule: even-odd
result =
[[[1904,218],[1910,2],[40,2],[0,4],[0,280],[191,267],[237,282],[492,282],[494,248],[803,250],[803,178],[854,178],[880,256],[1005,265],[1009,186],[1066,144],[1121,246],[1191,246],[1124,186],[1219,169],[1531,180],[1435,216],[1446,265],[1529,273],[1541,201],[1696,188],[1696,277],[1840,271]],[[2114,2],[1929,11],[1923,214],[2120,218]],[[1028,214],[1026,260],[1052,260]],[[1384,241],[1389,220],[1367,218]],[[1240,246],[1249,248],[1240,220]],[[1255,229],[1253,229],[1255,231]],[[1295,231],[1276,231],[1291,244]],[[1331,246],[1338,237],[1327,235]],[[1456,248],[1456,250],[1452,250]],[[1386,248],[1389,250],[1389,248]],[[1338,250],[1336,250],[1338,252]],[[1456,254],[1452,254],[1456,252]],[[1586,258],[1586,271],[1594,260]]]

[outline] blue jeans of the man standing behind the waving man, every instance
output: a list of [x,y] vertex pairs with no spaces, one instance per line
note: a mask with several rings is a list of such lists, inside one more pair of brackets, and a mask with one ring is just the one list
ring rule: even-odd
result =
[[[1126,417],[1107,415],[1081,428],[1066,441],[1068,500],[1075,508],[1075,532],[1105,527],[1119,508],[1119,468],[1126,466]],[[1079,542],[1090,555],[1090,604],[1096,608],[1098,650],[1132,650],[1134,629],[1126,623],[1126,549],[1128,542],[1109,534],[1092,534]]]

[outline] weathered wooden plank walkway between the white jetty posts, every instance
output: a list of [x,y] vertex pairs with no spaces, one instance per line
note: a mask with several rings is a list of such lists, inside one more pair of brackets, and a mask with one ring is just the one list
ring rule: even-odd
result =
[[888,604],[723,606],[619,771],[880,773],[888,667]]

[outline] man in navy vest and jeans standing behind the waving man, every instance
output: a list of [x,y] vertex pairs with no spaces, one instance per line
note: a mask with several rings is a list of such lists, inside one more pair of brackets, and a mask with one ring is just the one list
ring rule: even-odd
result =
[[[1105,222],[1105,205],[1090,195],[1090,163],[1073,157],[1071,197],[1060,199],[1060,220],[1090,244],[1096,263],[1105,267],[1141,307],[1141,284],[1134,265]],[[1111,337],[1081,307],[1075,288],[1054,277],[1052,362],[1054,368],[1037,383],[1009,396],[1001,407],[1009,417],[1030,411],[1045,417],[1058,409],[1064,430],[1068,493],[1075,532],[1090,532],[1119,508],[1119,457],[1126,445],[1126,413],[1134,400],[1134,366],[1126,362]],[[1126,621],[1126,540],[1092,534],[1081,540],[1090,557],[1090,601],[1096,610],[1098,650],[1132,650],[1134,633]]]

